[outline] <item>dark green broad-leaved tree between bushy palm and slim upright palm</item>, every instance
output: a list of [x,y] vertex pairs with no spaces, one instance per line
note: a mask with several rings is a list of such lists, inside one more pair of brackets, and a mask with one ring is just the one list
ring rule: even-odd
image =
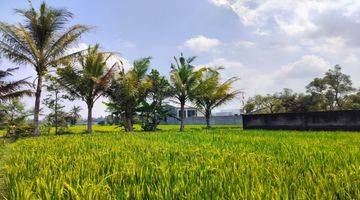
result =
[[171,107],[164,100],[171,96],[170,84],[157,70],[151,70],[148,75],[151,87],[147,89],[147,98],[144,99],[138,111],[142,129],[155,131],[162,120],[172,116]]

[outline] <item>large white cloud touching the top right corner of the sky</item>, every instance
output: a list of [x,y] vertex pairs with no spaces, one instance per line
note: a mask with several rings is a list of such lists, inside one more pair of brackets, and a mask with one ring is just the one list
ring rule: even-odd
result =
[[[289,35],[321,31],[317,19],[324,15],[339,13],[344,19],[359,22],[360,1],[358,0],[212,0],[214,5],[223,6],[235,12],[246,26],[254,26],[256,32],[268,27]],[[339,18],[339,17],[337,17]],[[260,30],[261,31],[260,31]]]

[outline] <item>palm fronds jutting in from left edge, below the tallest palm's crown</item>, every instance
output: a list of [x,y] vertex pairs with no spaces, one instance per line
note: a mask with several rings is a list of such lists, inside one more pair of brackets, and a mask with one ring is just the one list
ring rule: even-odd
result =
[[32,91],[30,89],[22,89],[23,86],[29,85],[26,81],[28,78],[17,81],[4,80],[8,76],[12,76],[12,72],[17,69],[18,68],[9,68],[7,70],[0,70],[0,102],[26,95],[32,95]]

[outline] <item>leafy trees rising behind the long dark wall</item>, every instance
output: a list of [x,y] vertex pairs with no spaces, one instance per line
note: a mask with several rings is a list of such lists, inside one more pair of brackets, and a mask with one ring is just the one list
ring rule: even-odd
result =
[[244,106],[246,113],[310,112],[360,109],[360,91],[339,65],[323,77],[312,80],[306,93],[291,89],[268,95],[255,95]]

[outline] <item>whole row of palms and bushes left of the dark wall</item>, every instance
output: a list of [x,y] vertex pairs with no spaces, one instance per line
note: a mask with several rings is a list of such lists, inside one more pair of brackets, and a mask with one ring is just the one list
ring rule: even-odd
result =
[[[79,107],[66,112],[64,100],[81,100],[87,105],[87,132],[92,133],[93,107],[100,97],[106,97],[112,122],[133,131],[135,123],[143,130],[154,131],[166,117],[176,117],[165,100],[172,99],[180,105],[180,131],[184,130],[186,103],[193,103],[205,114],[207,127],[211,127],[211,111],[233,99],[239,91],[232,90],[236,77],[222,81],[221,68],[192,64],[195,57],[174,57],[170,81],[157,70],[150,71],[151,58],[133,62],[125,70],[123,63],[110,63],[112,52],[100,50],[100,45],[69,52],[81,36],[90,30],[86,25],[67,26],[73,14],[45,3],[36,10],[30,2],[28,9],[16,9],[23,22],[0,22],[0,55],[15,64],[32,66],[36,79],[7,82],[15,69],[0,71],[0,122],[7,132],[26,132],[38,136],[52,127],[55,133],[66,132],[67,125],[76,124],[80,118]],[[33,88],[35,89],[33,91]],[[42,100],[43,89],[47,96]],[[20,98],[34,95],[34,110],[25,110]],[[49,110],[43,113],[43,103]],[[27,122],[33,114],[33,123]],[[45,119],[40,123],[39,116]],[[26,126],[25,126],[26,125]],[[26,131],[24,130],[26,127]]]

